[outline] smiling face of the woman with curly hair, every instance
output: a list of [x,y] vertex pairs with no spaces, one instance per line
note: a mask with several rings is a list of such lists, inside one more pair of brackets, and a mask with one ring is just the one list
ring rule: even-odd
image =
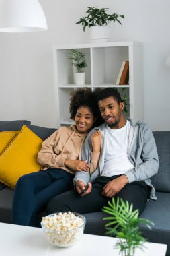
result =
[[95,117],[87,106],[77,109],[75,125],[79,133],[88,133],[95,122]]

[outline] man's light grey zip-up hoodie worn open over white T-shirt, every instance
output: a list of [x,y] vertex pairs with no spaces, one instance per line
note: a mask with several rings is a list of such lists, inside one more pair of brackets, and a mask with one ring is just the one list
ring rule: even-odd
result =
[[[159,158],[157,154],[157,147],[153,133],[151,129],[143,123],[142,121],[134,121],[127,118],[130,121],[130,132],[128,137],[128,157],[130,162],[134,165],[133,169],[130,169],[126,172],[126,177],[128,178],[129,183],[132,181],[145,181],[146,185],[151,187],[149,191],[149,198],[156,200],[155,189],[151,184],[151,177],[153,177],[158,172],[159,168]],[[91,152],[93,151],[91,144],[91,135],[96,131],[100,130],[102,134],[101,142],[101,154],[99,158],[99,166],[97,170],[90,174],[89,172],[77,172],[75,175],[75,181],[81,180],[87,185],[90,181],[93,183],[95,179],[101,174],[104,166],[104,156],[106,148],[106,123],[95,127],[87,135],[83,149],[81,152],[81,160],[87,160],[91,162]]]

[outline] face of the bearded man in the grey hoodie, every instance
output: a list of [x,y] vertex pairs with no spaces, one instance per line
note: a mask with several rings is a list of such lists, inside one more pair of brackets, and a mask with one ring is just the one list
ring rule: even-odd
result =
[[108,97],[98,102],[101,117],[111,129],[120,129],[126,125],[124,118],[124,102],[118,103],[114,97]]

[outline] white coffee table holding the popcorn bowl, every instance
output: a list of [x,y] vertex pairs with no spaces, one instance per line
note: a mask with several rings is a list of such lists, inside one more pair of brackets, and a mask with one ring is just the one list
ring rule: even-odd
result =
[[[114,249],[116,238],[83,234],[73,247],[58,248],[50,245],[41,228],[0,223],[0,252],[3,256],[120,256]],[[144,252],[137,256],[165,256],[167,245],[145,243]]]

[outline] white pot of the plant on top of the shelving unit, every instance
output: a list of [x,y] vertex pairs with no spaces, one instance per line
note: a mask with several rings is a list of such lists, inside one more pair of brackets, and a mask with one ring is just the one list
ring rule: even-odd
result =
[[110,28],[108,26],[93,26],[90,30],[90,42],[108,42],[110,40]]

